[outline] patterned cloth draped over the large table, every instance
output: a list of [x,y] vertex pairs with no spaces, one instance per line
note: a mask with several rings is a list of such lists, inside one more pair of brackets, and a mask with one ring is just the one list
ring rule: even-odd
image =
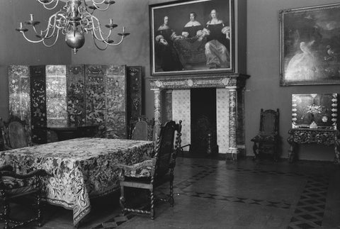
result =
[[141,162],[153,147],[151,141],[77,138],[0,152],[0,165],[11,164],[17,172],[45,169],[52,174],[43,181],[45,199],[72,209],[77,225],[91,210],[90,197],[118,189],[115,164]]

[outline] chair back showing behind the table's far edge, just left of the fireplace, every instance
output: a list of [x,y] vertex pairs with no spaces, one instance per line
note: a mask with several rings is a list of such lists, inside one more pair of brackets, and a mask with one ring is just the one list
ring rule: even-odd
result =
[[154,118],[149,120],[147,116],[138,117],[137,121],[130,121],[129,139],[152,140],[154,133]]

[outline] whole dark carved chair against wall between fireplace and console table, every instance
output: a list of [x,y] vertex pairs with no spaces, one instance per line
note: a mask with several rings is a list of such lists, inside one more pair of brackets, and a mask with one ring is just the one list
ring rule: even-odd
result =
[[261,108],[260,131],[251,139],[254,142],[253,151],[255,159],[258,159],[266,153],[273,154],[273,160],[278,160],[278,109],[276,111]]

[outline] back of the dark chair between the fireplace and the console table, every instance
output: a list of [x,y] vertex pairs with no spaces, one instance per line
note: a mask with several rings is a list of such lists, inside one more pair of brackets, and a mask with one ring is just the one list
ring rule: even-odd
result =
[[261,108],[260,133],[261,135],[276,135],[278,133],[278,109],[263,111]]

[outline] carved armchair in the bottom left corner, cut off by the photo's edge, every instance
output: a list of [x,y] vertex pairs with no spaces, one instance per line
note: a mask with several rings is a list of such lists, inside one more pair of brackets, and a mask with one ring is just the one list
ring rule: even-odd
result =
[[[40,177],[46,176],[44,169],[37,169],[28,174],[17,174],[13,167],[5,165],[0,168],[0,200],[4,210],[0,213],[0,220],[4,220],[4,228],[16,228],[33,221],[42,225],[42,213],[40,210]],[[20,203],[23,196],[35,196],[36,214],[26,220],[17,220],[11,216],[10,203]]]

